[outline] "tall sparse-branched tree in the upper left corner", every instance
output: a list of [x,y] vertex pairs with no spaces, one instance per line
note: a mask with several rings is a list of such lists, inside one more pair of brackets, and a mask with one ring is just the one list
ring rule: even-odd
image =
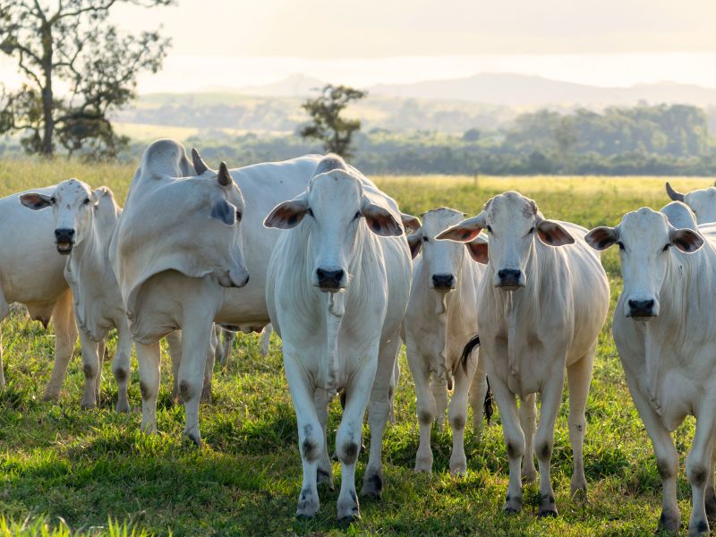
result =
[[[0,134],[24,132],[29,153],[115,155],[126,144],[107,115],[136,97],[137,75],[157,72],[168,39],[120,35],[107,17],[121,2],[153,7],[174,0],[0,0],[0,52],[26,81],[0,92]],[[57,87],[65,87],[62,94]]]

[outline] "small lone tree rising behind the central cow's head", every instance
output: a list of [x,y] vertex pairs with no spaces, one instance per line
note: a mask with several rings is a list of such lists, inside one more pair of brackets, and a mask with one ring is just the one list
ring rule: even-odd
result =
[[348,86],[327,84],[320,96],[306,100],[301,107],[311,115],[312,123],[301,129],[303,138],[323,141],[323,148],[341,157],[351,157],[351,139],[361,129],[361,120],[345,119],[341,112],[351,101],[364,98],[367,91],[354,90]]

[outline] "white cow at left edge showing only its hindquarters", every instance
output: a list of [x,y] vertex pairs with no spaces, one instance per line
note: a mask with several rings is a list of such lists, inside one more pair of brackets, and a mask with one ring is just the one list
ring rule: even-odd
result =
[[[38,189],[49,194],[55,185]],[[0,321],[10,312],[11,303],[23,303],[33,320],[47,327],[55,321],[55,364],[46,400],[56,399],[64,372],[72,357],[77,328],[72,315],[72,292],[64,281],[64,259],[55,252],[52,214],[38,217],[21,207],[23,192],[0,200]],[[4,388],[2,335],[0,334],[0,388]]]

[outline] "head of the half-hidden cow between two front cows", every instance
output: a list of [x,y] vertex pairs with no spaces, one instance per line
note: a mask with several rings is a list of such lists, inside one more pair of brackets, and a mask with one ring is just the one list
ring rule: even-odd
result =
[[472,243],[465,243],[466,248],[463,248],[459,243],[435,240],[440,232],[459,224],[465,217],[465,213],[455,209],[432,209],[422,217],[422,226],[408,236],[411,254],[414,259],[422,251],[428,285],[439,293],[448,293],[456,288],[460,280],[465,250],[474,256],[474,251],[486,248],[486,241],[478,237]]

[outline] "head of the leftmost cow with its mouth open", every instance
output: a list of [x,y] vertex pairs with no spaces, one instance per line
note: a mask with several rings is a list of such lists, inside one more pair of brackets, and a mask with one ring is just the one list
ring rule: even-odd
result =
[[100,195],[101,192],[93,192],[89,184],[68,179],[59,183],[50,195],[28,192],[20,196],[20,202],[35,210],[52,208],[57,251],[68,255],[90,232]]

